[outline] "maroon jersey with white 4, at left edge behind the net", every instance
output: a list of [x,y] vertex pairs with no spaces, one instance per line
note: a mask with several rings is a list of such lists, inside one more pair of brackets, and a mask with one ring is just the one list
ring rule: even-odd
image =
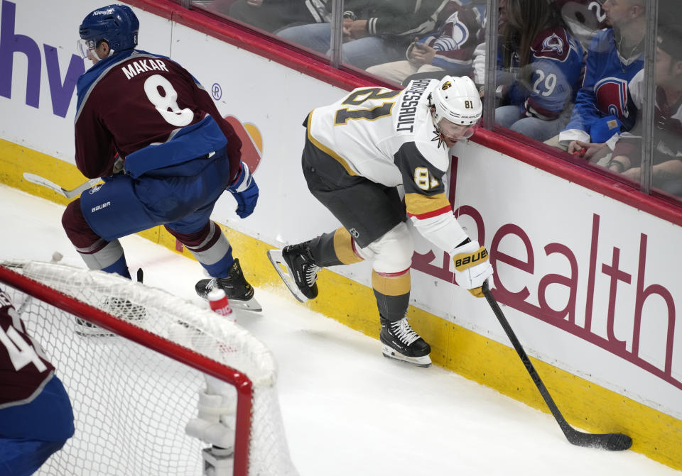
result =
[[43,348],[26,333],[9,296],[0,291],[0,409],[31,402],[54,371]]

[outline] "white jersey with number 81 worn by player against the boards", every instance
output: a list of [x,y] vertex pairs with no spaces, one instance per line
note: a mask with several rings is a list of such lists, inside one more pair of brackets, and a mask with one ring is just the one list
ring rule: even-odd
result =
[[445,251],[467,238],[445,196],[448,146],[438,140],[428,96],[436,79],[403,90],[354,89],[308,118],[308,139],[350,175],[395,187],[403,184],[408,216],[423,236]]

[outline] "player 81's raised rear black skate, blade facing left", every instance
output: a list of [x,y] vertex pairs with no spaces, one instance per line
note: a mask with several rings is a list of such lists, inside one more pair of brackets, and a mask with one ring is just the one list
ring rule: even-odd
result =
[[307,243],[269,250],[268,258],[293,297],[301,302],[318,297],[318,271]]

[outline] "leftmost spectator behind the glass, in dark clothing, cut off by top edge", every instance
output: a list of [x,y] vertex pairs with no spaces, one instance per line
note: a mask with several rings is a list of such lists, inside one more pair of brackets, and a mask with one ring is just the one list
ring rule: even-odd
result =
[[330,0],[215,0],[210,9],[261,30],[276,32],[286,26],[330,21],[328,6]]

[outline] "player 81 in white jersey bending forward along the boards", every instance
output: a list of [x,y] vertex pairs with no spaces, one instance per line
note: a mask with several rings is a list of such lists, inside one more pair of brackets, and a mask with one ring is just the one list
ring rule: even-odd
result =
[[[408,217],[453,256],[460,286],[481,297],[492,275],[487,250],[462,230],[442,181],[449,148],[472,135],[481,113],[472,80],[446,76],[415,80],[399,91],[354,89],[314,109],[303,124],[308,188],[343,226],[281,252],[271,250],[271,261],[294,296],[305,301],[318,295],[321,267],[371,260],[386,357],[431,365],[430,346],[406,319],[414,251]],[[404,205],[396,188],[401,184]]]

